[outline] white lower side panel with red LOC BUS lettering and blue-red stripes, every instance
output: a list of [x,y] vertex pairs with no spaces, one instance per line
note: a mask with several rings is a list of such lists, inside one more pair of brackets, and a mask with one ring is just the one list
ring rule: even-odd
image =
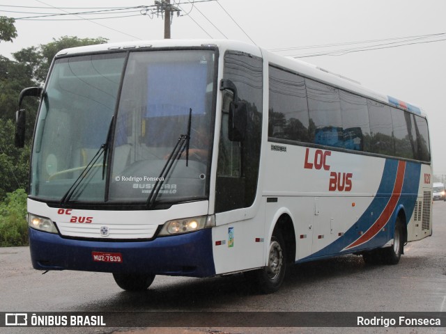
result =
[[277,202],[267,203],[267,225],[278,213],[290,212],[296,261],[390,245],[399,214],[406,217],[408,241],[431,234],[431,192],[422,164],[268,145],[264,196],[277,196]]

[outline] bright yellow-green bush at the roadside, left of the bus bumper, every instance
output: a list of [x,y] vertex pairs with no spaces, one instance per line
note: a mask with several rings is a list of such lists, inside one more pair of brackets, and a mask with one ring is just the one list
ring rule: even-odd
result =
[[0,203],[0,246],[26,246],[28,223],[26,222],[26,191],[17,189],[8,193]]

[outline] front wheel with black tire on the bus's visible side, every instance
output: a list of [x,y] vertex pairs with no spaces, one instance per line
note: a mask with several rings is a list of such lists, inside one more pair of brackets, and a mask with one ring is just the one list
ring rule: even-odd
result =
[[275,233],[271,237],[268,252],[268,265],[262,269],[246,271],[245,278],[254,283],[263,294],[277,292],[282,286],[286,272],[286,250],[282,234]]

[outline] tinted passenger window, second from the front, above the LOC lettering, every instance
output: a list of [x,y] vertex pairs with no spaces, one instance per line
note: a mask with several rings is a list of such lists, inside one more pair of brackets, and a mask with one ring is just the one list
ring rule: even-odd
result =
[[305,79],[308,95],[310,142],[344,147],[341,105],[337,88]]

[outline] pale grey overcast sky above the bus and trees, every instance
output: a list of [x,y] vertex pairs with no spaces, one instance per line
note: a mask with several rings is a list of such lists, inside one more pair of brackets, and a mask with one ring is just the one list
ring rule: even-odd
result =
[[[110,42],[161,39],[162,17],[142,8],[84,13],[91,8],[153,6],[154,2],[1,0],[1,16],[83,14],[42,17],[39,21],[17,19],[18,37],[13,43],[1,42],[0,54],[10,58],[12,52],[46,44],[63,35],[103,37]],[[421,106],[429,116],[434,173],[446,177],[445,0],[171,0],[171,3],[182,10],[182,16],[174,16],[171,24],[172,38],[228,38],[254,43],[284,56],[298,56],[360,81],[379,93]],[[131,16],[123,17],[127,15]]]

